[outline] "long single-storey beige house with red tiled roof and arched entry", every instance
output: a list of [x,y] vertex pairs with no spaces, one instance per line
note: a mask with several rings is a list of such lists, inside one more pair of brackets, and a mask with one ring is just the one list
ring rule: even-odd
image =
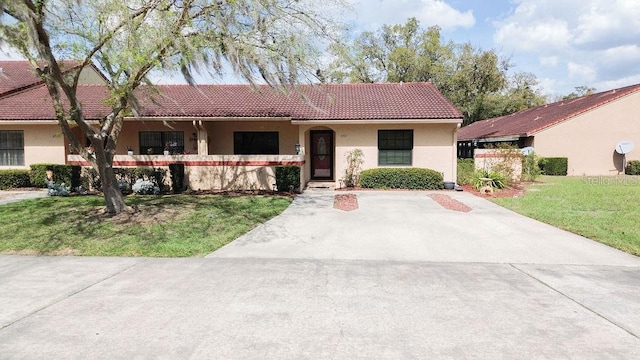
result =
[[[82,85],[78,93],[87,119],[108,114],[103,86]],[[184,163],[192,189],[271,189],[279,165],[301,166],[304,184],[340,186],[356,148],[365,169],[425,167],[456,178],[462,114],[431,83],[304,85],[286,94],[268,86],[164,85],[138,98],[140,116],[125,119],[114,165]],[[2,134],[21,136],[23,146],[7,148]],[[67,143],[42,84],[0,98],[0,169],[87,165]],[[7,163],[12,152],[22,152],[22,161]]]

